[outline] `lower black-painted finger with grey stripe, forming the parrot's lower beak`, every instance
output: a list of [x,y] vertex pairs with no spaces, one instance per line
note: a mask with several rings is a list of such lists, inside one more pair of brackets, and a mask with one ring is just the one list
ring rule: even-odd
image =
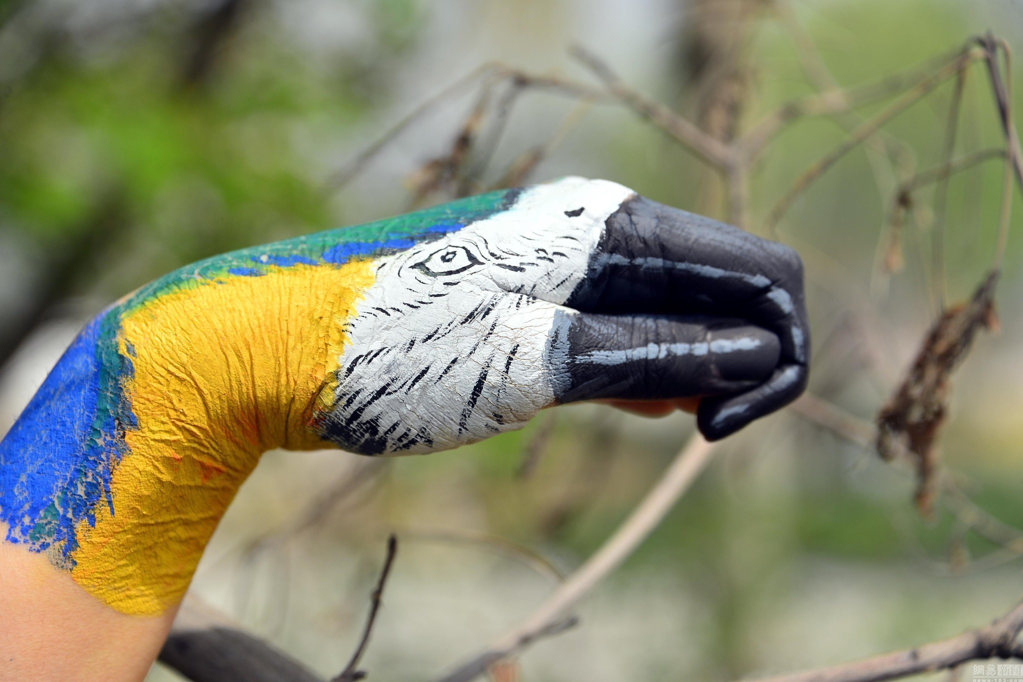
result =
[[547,354],[560,403],[735,395],[777,365],[777,337],[742,320],[574,313]]

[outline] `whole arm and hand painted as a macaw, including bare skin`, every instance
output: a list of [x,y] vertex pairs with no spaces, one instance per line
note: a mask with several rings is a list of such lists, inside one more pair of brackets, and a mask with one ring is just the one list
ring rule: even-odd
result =
[[262,452],[598,400],[716,440],[804,389],[791,249],[567,178],[216,257],[96,317],[0,442],[0,679],[141,678]]

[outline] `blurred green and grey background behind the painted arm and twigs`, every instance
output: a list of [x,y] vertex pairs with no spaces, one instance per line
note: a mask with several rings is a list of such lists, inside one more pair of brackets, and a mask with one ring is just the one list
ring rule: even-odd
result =
[[[579,44],[729,141],[783,102],[933,69],[988,30],[1019,46],[1023,2],[0,1],[0,434],[86,320],[207,256],[570,174],[729,217],[720,179],[629,107],[506,70],[599,91],[570,55]],[[465,80],[493,61],[503,66]],[[777,225],[807,262],[811,391],[868,424],[942,290],[968,298],[995,251],[996,160],[952,177],[944,215],[934,184],[903,196],[909,217],[892,236],[899,183],[944,158],[954,87],[843,156]],[[750,168],[748,226],[763,232],[794,179],[890,101],[788,126]],[[957,130],[957,156],[1004,144],[981,64],[963,82]],[[1008,610],[1023,592],[1021,219],[1000,332],[982,332],[954,377],[940,445],[958,496],[926,516],[909,467],[794,410],[764,419],[727,441],[587,597],[580,625],[531,648],[514,679],[729,680],[921,643]],[[579,406],[429,457],[268,453],[192,589],[335,675],[395,532],[363,667],[376,680],[429,679],[555,589],[693,428],[687,415]],[[158,665],[149,679],[181,678]]]

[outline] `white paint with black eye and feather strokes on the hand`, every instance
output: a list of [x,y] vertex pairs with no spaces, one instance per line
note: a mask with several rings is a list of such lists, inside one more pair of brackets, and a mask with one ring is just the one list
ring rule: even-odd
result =
[[[585,276],[605,221],[633,194],[605,180],[565,178],[525,190],[508,211],[381,259],[350,323],[332,418],[370,434],[390,429],[384,450],[399,454],[525,425],[553,401],[544,353],[554,314]],[[580,208],[577,217],[566,214]],[[429,442],[403,449],[406,429]]]

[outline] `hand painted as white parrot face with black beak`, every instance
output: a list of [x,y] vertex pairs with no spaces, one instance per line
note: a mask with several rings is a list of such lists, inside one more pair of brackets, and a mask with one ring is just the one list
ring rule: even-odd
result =
[[795,252],[611,182],[523,190],[376,276],[320,422],[355,452],[452,448],[596,399],[706,396],[716,440],[806,385]]

